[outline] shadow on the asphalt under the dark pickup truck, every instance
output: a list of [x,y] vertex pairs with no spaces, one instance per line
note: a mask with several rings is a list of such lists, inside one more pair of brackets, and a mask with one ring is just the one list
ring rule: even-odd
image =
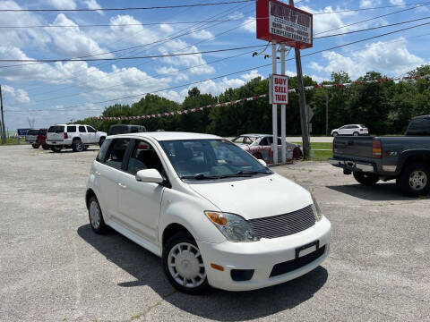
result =
[[395,183],[377,183],[373,186],[364,184],[348,184],[327,186],[334,191],[346,193],[352,197],[372,201],[412,200],[414,198],[402,195]]

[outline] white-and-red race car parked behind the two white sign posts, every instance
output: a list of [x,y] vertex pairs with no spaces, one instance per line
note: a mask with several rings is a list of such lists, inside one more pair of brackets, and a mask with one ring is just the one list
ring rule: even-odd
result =
[[[270,134],[242,134],[231,140],[236,143],[240,148],[249,152],[257,159],[262,159],[266,163],[273,163],[273,151],[271,144],[273,143],[273,135]],[[280,154],[281,141],[278,138],[278,158],[281,159]],[[302,147],[298,144],[287,142],[287,160],[298,159],[303,157]]]

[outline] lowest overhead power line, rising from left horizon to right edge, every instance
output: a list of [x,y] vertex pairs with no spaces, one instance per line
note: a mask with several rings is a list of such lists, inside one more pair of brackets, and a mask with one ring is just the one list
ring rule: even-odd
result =
[[[340,48],[340,47],[347,47],[347,46],[354,45],[354,44],[357,44],[357,43],[360,43],[360,42],[364,42],[364,41],[367,41],[367,40],[370,40],[370,39],[374,39],[374,38],[381,38],[381,37],[383,37],[383,36],[388,36],[388,35],[391,35],[391,34],[394,34],[394,33],[400,32],[400,31],[410,30],[410,29],[417,28],[417,27],[421,27],[421,26],[428,25],[428,24],[430,24],[430,22],[426,22],[426,23],[422,23],[422,24],[420,24],[420,25],[416,25],[416,26],[412,26],[412,27],[404,28],[404,29],[402,29],[402,30],[394,30],[394,31],[391,31],[391,32],[383,33],[383,34],[381,34],[381,35],[377,35],[377,36],[373,36],[373,37],[369,37],[369,38],[359,39],[359,40],[356,40],[356,41],[349,42],[349,43],[347,43],[347,44],[343,44],[343,45],[340,45],[340,46],[335,46],[335,47],[326,48],[326,49],[323,49],[323,50],[318,50],[318,51],[315,51],[315,52],[313,52],[313,53],[305,54],[305,55],[302,55],[302,56],[303,56],[303,57],[305,57],[305,56],[310,56],[310,55],[317,55],[317,54],[323,53],[323,52],[325,52],[325,51],[329,51],[329,50],[337,49],[337,48]],[[289,58],[289,59],[287,59],[287,60],[286,60],[286,62],[287,62],[287,61],[294,60],[294,59],[295,59],[295,58]],[[118,98],[113,98],[113,99],[107,99],[107,100],[99,101],[99,102],[90,102],[90,103],[85,103],[85,104],[81,104],[81,105],[77,105],[77,106],[67,106],[67,107],[64,107],[63,109],[34,109],[34,110],[25,110],[25,111],[13,111],[13,110],[9,111],[9,110],[8,110],[8,111],[6,111],[6,112],[16,112],[16,113],[23,113],[23,112],[25,112],[25,113],[28,113],[28,112],[41,112],[41,111],[65,111],[65,110],[67,110],[67,109],[69,109],[69,108],[76,108],[76,107],[88,106],[89,104],[92,104],[92,105],[104,104],[104,103],[114,102],[114,101],[122,100],[122,99],[129,99],[129,98],[135,98],[135,97],[142,97],[142,96],[145,96],[145,95],[147,95],[147,94],[158,93],[158,92],[160,92],[160,91],[164,91],[164,90],[178,89],[178,88],[182,88],[182,87],[185,87],[185,86],[194,85],[194,84],[197,84],[197,83],[202,83],[202,82],[204,82],[204,81],[208,81],[208,80],[218,80],[218,79],[220,79],[220,78],[228,77],[228,76],[231,76],[231,75],[234,75],[234,74],[237,74],[237,73],[241,73],[241,72],[250,72],[250,71],[252,71],[252,70],[255,70],[255,69],[258,69],[258,68],[262,68],[262,67],[267,67],[267,66],[271,66],[271,64],[263,64],[263,65],[260,65],[260,66],[254,66],[254,67],[252,67],[252,68],[248,68],[248,69],[245,69],[245,70],[242,70],[242,71],[239,71],[239,72],[230,72],[230,73],[228,73],[228,74],[224,74],[224,75],[221,75],[221,76],[217,76],[217,77],[209,78],[209,79],[206,79],[206,80],[196,80],[196,81],[193,81],[193,82],[190,82],[190,83],[186,83],[186,84],[183,84],[183,85],[177,85],[177,86],[170,87],[170,88],[158,89],[158,90],[155,90],[155,91],[146,92],[146,93],[137,94],[137,95],[132,95],[132,96],[126,96],[126,97],[118,97]]]

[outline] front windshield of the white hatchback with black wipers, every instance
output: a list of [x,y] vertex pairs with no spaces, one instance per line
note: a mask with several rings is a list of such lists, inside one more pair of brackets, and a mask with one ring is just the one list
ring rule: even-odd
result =
[[272,174],[254,157],[228,140],[160,141],[181,179],[216,180]]

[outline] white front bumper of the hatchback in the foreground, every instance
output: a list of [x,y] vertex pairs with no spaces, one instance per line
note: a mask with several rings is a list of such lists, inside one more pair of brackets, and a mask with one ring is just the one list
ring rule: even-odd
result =
[[[276,264],[296,259],[297,248],[315,241],[319,242],[320,250],[325,246],[322,256],[288,273],[271,276]],[[330,241],[331,223],[323,217],[305,231],[285,237],[262,239],[259,242],[197,243],[211,286],[227,291],[249,291],[281,284],[310,272],[328,256]],[[303,250],[300,257],[305,254]],[[224,267],[224,271],[212,268],[211,263]],[[254,270],[254,275],[247,281],[235,281],[231,277],[232,269],[251,269]]]

